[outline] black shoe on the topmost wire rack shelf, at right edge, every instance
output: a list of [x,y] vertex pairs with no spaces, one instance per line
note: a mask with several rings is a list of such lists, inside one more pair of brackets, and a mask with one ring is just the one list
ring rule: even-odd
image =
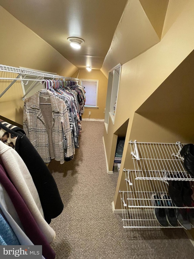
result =
[[194,145],[186,144],[180,151],[182,157],[184,157],[184,167],[186,171],[194,177]]

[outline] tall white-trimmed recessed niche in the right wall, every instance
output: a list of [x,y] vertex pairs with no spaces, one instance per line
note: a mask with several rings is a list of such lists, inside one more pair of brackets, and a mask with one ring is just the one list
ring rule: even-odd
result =
[[119,81],[121,75],[121,64],[115,66],[109,71],[107,97],[106,97],[106,108],[105,108],[105,127],[108,131],[109,117],[114,124],[116,115],[116,100],[119,92]]

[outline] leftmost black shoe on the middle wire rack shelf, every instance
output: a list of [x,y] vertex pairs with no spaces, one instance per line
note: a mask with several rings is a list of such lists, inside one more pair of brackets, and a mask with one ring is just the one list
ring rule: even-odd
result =
[[182,181],[168,181],[169,196],[177,207],[184,207],[182,200]]

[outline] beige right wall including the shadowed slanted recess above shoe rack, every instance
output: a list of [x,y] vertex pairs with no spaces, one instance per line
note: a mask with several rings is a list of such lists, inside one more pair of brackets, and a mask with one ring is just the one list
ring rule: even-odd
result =
[[[193,1],[170,0],[161,41],[122,65],[115,123],[113,125],[109,119],[108,134],[104,130],[107,164],[111,170],[114,133],[129,119],[115,192],[115,209],[121,208],[118,192],[126,186],[122,170],[133,169],[128,141],[194,142],[191,123],[194,103],[193,13]],[[125,53],[125,49],[122,51]],[[112,57],[107,55],[106,59]]]

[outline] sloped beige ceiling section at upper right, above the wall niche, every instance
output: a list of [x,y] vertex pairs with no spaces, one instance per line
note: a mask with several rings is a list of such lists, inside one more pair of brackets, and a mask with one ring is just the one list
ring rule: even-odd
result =
[[117,64],[123,65],[160,42],[167,6],[166,0],[127,2],[101,68],[106,77]]

